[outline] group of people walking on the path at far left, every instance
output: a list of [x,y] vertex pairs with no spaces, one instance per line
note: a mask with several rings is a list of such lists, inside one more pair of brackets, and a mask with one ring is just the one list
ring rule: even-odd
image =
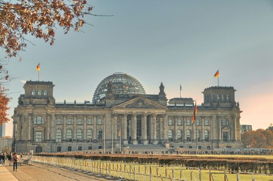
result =
[[0,153],[0,166],[5,166],[5,161],[7,160],[9,162],[9,166],[12,166],[13,164],[13,171],[17,171],[18,163],[20,162],[21,158],[22,154],[19,156],[16,152]]

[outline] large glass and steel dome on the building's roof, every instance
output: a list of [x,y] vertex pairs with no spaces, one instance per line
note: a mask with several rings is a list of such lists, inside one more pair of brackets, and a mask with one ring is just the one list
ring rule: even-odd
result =
[[107,84],[112,84],[114,93],[145,94],[145,90],[138,80],[125,73],[115,73],[103,79],[95,90],[92,102],[104,97],[107,92]]

